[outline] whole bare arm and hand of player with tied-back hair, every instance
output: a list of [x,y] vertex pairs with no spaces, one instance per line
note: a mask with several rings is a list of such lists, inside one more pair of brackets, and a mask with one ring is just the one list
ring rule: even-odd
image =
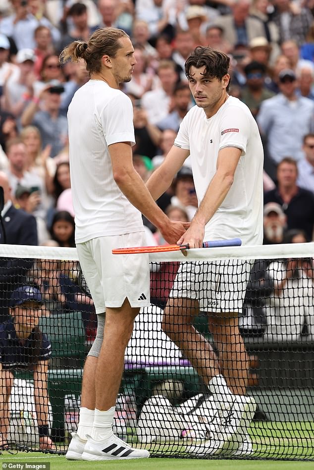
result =
[[114,181],[131,204],[160,230],[168,243],[176,243],[189,224],[170,222],[157,206],[144,181],[133,167],[131,145],[119,142],[109,146]]

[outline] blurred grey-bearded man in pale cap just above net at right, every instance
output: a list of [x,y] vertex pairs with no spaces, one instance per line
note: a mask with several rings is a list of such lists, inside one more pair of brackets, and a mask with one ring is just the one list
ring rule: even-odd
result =
[[278,243],[282,243],[287,228],[287,217],[279,204],[265,204],[263,226],[263,245],[277,245]]

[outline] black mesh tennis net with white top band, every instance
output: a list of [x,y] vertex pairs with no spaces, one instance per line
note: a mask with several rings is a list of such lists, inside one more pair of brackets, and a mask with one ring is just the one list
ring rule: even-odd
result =
[[[154,456],[314,460],[313,247],[151,254],[151,306],[136,318],[125,353],[114,418],[119,437]],[[33,296],[39,289],[44,301],[39,328],[10,307],[26,286]],[[188,329],[174,316],[174,300],[164,310],[171,290],[171,299],[194,299],[182,301]],[[225,323],[237,310],[244,356],[230,346],[239,339],[235,323]],[[0,422],[9,447],[39,449],[48,435],[55,452],[66,451],[96,329],[75,249],[0,245]],[[196,330],[183,347],[172,341]],[[222,432],[221,404],[205,385],[206,342],[234,393],[248,366],[246,395],[256,409],[230,439]],[[231,362],[224,360],[228,348],[236,354]]]

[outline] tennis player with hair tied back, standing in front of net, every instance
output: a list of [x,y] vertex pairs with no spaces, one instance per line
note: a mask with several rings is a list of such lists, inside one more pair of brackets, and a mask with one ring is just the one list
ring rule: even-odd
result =
[[149,262],[148,255],[117,258],[111,250],[147,245],[141,212],[169,243],[176,243],[188,224],[168,219],[133,167],[133,108],[119,89],[136,64],[128,35],[99,29],[88,43],[74,41],[60,55],[61,61],[80,59],[90,80],[68,109],[70,175],[75,241],[98,329],[84,367],[78,431],[66,458],[140,459],[149,457],[148,451],[121,441],[112,424],[133,321],[140,307],[149,305]]

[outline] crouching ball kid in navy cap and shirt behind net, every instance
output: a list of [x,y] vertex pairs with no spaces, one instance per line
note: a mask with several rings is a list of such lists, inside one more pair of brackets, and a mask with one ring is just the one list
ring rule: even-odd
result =
[[[11,295],[10,317],[0,323],[0,449],[7,450],[9,427],[8,402],[13,387],[14,370],[33,372],[34,399],[39,431],[39,446],[55,450],[49,436],[48,366],[51,343],[39,327],[43,314],[42,296],[36,287],[22,285]],[[19,444],[18,442],[16,444]]]

